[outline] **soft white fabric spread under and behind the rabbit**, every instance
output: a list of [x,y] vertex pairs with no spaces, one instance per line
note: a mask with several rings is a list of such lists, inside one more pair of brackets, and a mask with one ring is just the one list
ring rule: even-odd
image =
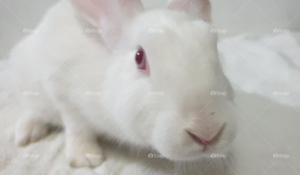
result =
[[[236,90],[238,131],[233,147],[237,160],[232,174],[296,175],[300,172],[300,34],[242,35],[222,39],[223,68]],[[252,61],[253,60],[253,61]],[[249,61],[251,63],[249,63]],[[65,160],[63,130],[19,148],[14,125],[20,101],[8,94],[9,65],[0,64],[1,174],[173,174],[168,161],[132,158],[106,145],[107,161],[94,169],[70,168]],[[275,92],[282,95],[273,95]],[[288,95],[287,95],[288,93]],[[287,95],[287,96],[285,96]],[[288,158],[273,158],[273,154]],[[31,157],[31,158],[27,158]],[[201,172],[199,172],[200,174]],[[154,174],[154,173],[152,173]]]

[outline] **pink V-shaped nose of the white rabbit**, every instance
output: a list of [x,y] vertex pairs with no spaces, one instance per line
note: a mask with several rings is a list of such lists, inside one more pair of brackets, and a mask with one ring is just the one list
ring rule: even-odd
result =
[[213,146],[215,144],[217,144],[222,136],[222,133],[224,131],[224,128],[226,127],[226,123],[223,124],[222,128],[220,129],[220,131],[217,133],[217,135],[215,137],[213,137],[211,140],[203,140],[202,138],[200,138],[199,136],[197,136],[196,134],[193,134],[187,130],[185,130],[188,135],[190,135],[190,137],[196,141],[198,144],[204,146],[203,148],[203,152],[207,149],[212,149],[210,146]]

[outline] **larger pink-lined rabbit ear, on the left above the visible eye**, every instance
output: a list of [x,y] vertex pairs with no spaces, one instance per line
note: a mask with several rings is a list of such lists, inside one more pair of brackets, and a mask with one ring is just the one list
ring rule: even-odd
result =
[[128,19],[143,11],[140,0],[71,0],[75,9],[110,43],[118,41]]

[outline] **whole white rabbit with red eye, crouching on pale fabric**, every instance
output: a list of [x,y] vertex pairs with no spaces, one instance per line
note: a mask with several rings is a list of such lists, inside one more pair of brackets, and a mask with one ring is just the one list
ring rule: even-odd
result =
[[16,143],[63,126],[74,167],[105,161],[99,136],[178,164],[225,153],[235,135],[233,94],[210,18],[208,0],[146,12],[139,0],[59,2],[11,54],[25,100]]

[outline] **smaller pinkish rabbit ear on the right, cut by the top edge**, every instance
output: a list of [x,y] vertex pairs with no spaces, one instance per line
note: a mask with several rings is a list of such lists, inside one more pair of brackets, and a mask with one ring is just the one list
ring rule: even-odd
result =
[[209,0],[170,0],[168,9],[183,11],[195,18],[211,22],[211,7]]

